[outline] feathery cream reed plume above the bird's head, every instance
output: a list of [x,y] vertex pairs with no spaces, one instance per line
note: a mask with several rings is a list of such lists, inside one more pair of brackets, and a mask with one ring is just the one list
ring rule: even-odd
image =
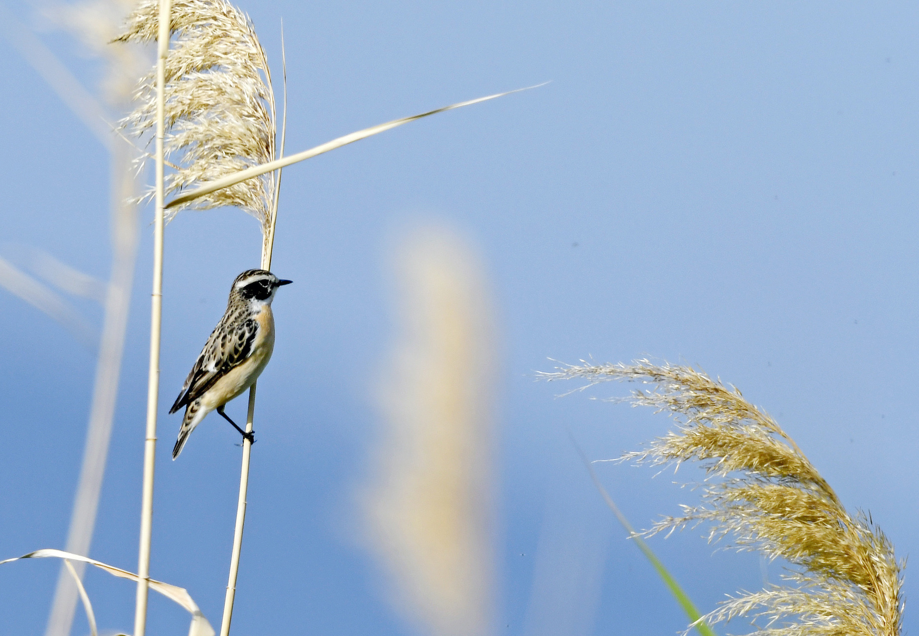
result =
[[[156,40],[158,0],[142,0],[116,41]],[[197,187],[275,159],[275,97],[265,51],[252,22],[224,0],[176,0],[165,62],[165,153],[175,171],[166,194]],[[156,74],[141,80],[137,108],[122,125],[142,135],[156,125]],[[167,212],[237,206],[268,235],[277,173],[247,179]]]

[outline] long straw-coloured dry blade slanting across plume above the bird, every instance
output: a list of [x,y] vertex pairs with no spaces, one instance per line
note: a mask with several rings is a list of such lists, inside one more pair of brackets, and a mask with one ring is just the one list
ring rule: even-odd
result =
[[265,173],[271,172],[272,170],[278,170],[278,168],[283,168],[287,165],[296,164],[298,162],[303,161],[304,159],[311,159],[312,157],[316,155],[319,155],[322,153],[328,153],[330,150],[341,148],[342,146],[346,146],[348,143],[359,142],[362,139],[372,137],[373,135],[379,134],[380,132],[389,131],[393,128],[402,126],[403,124],[407,124],[408,122],[414,121],[416,119],[422,119],[425,117],[429,117],[431,115],[437,115],[437,113],[446,112],[447,110],[452,110],[453,108],[462,108],[464,106],[471,106],[472,104],[478,104],[479,102],[488,101],[489,99],[495,99],[497,97],[505,97],[505,95],[510,95],[511,93],[519,93],[520,91],[529,90],[530,88],[538,88],[539,86],[542,86],[545,84],[547,83],[538,84],[535,86],[527,86],[526,88],[516,88],[515,90],[507,91],[506,93],[497,93],[495,95],[479,97],[477,99],[470,99],[469,101],[459,102],[459,104],[450,104],[449,106],[445,106],[443,108],[436,108],[435,110],[429,110],[425,113],[420,113],[418,115],[412,115],[411,117],[403,117],[402,119],[393,119],[392,121],[387,121],[382,124],[377,124],[376,126],[371,126],[370,128],[365,128],[362,131],[351,132],[351,133],[346,134],[343,137],[338,137],[337,139],[334,139],[331,142],[325,142],[314,148],[311,148],[310,150],[304,150],[302,153],[291,154],[288,157],[283,157],[281,159],[277,159],[267,164],[254,165],[251,168],[240,170],[239,172],[234,173],[233,175],[224,176],[221,179],[217,179],[215,181],[210,182],[207,186],[199,187],[198,189],[192,190],[191,192],[187,192],[186,194],[176,197],[176,199],[172,199],[165,206],[165,208],[168,210],[169,208],[173,208],[177,205],[181,205],[183,203],[187,203],[188,201],[198,199],[199,197],[203,197],[204,195],[208,195],[211,192],[216,192],[217,190],[221,190],[224,187],[234,186],[237,183],[240,183],[241,181],[245,181],[246,179],[251,179],[254,176],[264,175]]

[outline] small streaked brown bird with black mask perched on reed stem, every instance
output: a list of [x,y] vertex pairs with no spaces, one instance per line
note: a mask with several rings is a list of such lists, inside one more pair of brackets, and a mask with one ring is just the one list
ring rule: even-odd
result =
[[188,436],[211,411],[216,410],[250,443],[254,431],[246,433],[223,412],[226,403],[255,384],[275,348],[275,317],[271,301],[282,280],[265,269],[248,269],[233,280],[230,299],[221,322],[210,332],[207,344],[188,372],[182,391],[169,414],[185,406],[173,460],[185,448]]

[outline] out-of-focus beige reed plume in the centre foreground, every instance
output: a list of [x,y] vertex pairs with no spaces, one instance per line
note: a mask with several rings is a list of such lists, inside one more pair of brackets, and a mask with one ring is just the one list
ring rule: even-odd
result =
[[489,303],[470,251],[416,233],[398,256],[399,330],[384,367],[387,426],[362,493],[393,602],[425,633],[492,628]]

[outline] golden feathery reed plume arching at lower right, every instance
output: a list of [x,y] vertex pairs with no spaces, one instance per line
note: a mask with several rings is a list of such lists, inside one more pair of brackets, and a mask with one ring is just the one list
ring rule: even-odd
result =
[[[902,562],[870,517],[851,516],[820,473],[772,417],[705,373],[654,365],[568,366],[550,380],[635,380],[653,385],[618,402],[666,411],[675,431],[623,460],[652,465],[702,462],[702,505],[684,505],[648,534],[711,524],[709,541],[731,534],[738,550],[758,550],[791,567],[786,585],[742,592],[702,617],[709,625],[754,620],[757,636],[894,636],[901,631]],[[765,624],[757,624],[765,619]]]

